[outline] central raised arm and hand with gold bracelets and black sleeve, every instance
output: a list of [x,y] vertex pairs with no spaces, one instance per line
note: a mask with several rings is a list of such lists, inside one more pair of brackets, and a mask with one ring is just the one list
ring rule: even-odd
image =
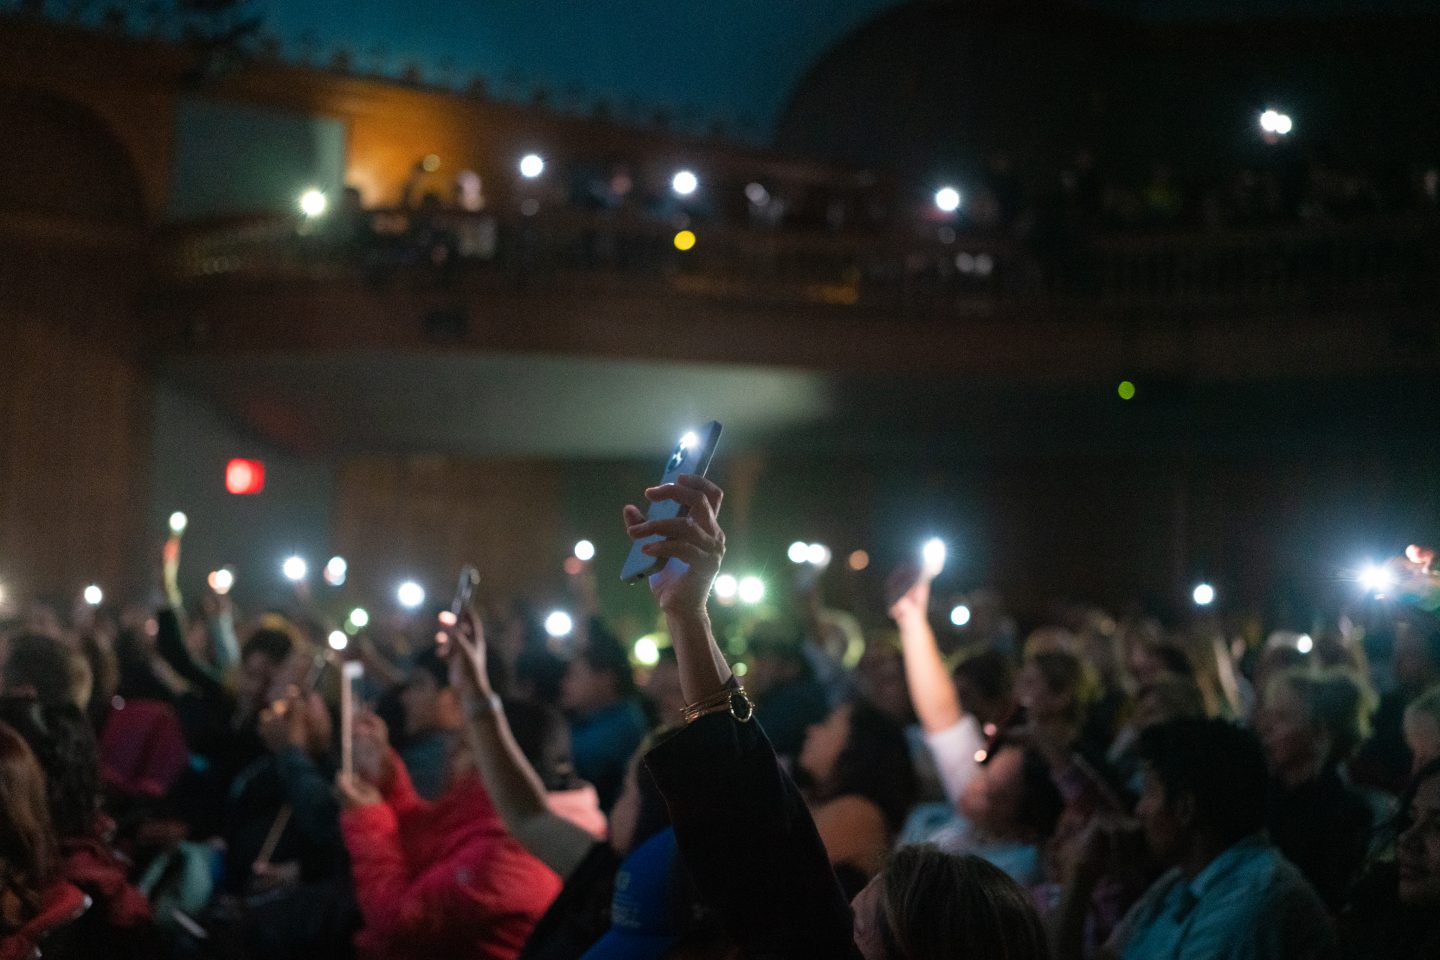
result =
[[647,521],[626,507],[625,525],[632,540],[665,537],[645,547],[668,560],[651,577],[651,592],[670,628],[685,699],[716,707],[645,756],[685,865],[746,956],[858,957],[850,904],[799,790],[743,701],[724,705],[734,678],[706,610],[724,557],[723,494],[707,479],[681,476],[645,497],[690,508],[687,517]]

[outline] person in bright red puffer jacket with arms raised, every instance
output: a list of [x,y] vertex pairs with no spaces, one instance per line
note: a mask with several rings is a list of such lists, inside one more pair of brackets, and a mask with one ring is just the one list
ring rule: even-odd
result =
[[420,799],[384,724],[356,720],[341,829],[364,927],[361,957],[514,960],[560,878],[505,830],[467,751],[438,800]]

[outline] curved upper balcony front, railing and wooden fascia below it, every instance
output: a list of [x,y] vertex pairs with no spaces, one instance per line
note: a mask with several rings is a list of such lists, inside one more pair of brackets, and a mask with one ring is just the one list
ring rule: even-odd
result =
[[[454,344],[1009,373],[1221,376],[1437,361],[1440,214],[1040,236],[786,229],[580,210],[338,210],[186,225],[157,245],[181,350]],[[1090,370],[1092,373],[1097,370]]]

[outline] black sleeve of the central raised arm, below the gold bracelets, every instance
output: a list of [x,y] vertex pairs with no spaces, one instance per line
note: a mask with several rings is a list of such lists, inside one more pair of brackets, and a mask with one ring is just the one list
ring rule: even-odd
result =
[[760,724],[701,717],[645,766],[697,889],[746,956],[860,959],[815,822]]

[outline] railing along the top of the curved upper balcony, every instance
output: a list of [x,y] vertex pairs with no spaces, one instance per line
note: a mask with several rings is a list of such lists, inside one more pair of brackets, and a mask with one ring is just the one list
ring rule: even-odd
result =
[[[694,235],[691,249],[678,249]],[[677,239],[680,240],[677,243]],[[1440,217],[1224,232],[1017,239],[675,225],[569,209],[524,216],[367,210],[168,227],[158,273],[179,284],[363,282],[495,289],[622,278],[697,296],[868,307],[914,317],[1030,307],[1215,309],[1423,302],[1440,294]]]

